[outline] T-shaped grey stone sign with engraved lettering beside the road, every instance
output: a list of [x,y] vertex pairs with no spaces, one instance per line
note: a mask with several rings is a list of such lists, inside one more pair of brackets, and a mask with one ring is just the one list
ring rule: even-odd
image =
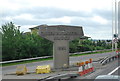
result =
[[53,42],[54,68],[69,67],[69,41],[82,37],[80,26],[41,25],[39,35]]

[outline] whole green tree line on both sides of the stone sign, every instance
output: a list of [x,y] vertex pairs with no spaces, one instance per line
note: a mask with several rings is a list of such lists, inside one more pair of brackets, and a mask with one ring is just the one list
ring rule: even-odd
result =
[[[1,27],[2,34],[2,60],[16,60],[41,56],[52,56],[53,43],[40,37],[36,33],[24,34],[20,27],[9,22]],[[111,49],[111,40],[80,40],[70,42],[69,51],[83,52],[102,49]]]

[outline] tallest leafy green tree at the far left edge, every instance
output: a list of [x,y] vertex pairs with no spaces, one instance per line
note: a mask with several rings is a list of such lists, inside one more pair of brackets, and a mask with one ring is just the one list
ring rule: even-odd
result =
[[5,25],[2,25],[2,59],[9,60],[14,59],[17,52],[18,40],[20,39],[19,27],[10,22]]

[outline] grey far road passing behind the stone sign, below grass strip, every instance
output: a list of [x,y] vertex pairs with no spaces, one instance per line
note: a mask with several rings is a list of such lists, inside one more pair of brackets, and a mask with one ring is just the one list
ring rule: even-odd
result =
[[[102,58],[102,57],[110,56],[111,54],[114,54],[114,53],[109,52],[109,53],[102,53],[102,54],[91,54],[91,55],[85,55],[85,56],[70,57],[70,63],[88,60],[90,58],[92,58],[92,59]],[[38,65],[51,65],[51,66],[53,66],[53,61],[49,60],[49,61],[33,62],[33,63],[27,63],[25,65],[27,66],[27,68],[29,70],[33,71]],[[6,74],[6,73],[15,72],[16,66],[17,65],[2,67],[2,73]]]

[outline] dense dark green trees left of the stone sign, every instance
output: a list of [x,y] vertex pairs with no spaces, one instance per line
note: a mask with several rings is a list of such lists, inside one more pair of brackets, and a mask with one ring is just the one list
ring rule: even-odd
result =
[[2,60],[52,55],[52,42],[36,34],[24,34],[10,22],[2,26]]

